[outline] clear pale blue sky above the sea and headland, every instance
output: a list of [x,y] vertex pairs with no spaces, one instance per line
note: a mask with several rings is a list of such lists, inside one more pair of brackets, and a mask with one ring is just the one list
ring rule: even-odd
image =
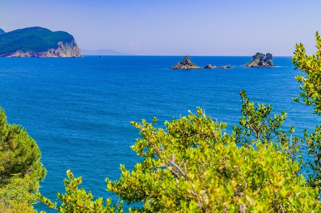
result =
[[66,31],[81,49],[135,55],[292,56],[315,52],[319,0],[0,0],[6,32]]

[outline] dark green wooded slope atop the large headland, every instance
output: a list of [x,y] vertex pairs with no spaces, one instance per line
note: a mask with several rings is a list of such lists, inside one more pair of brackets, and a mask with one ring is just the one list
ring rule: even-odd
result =
[[42,52],[58,48],[58,42],[71,42],[73,36],[67,32],[52,32],[46,28],[30,27],[0,34],[0,54],[23,52]]

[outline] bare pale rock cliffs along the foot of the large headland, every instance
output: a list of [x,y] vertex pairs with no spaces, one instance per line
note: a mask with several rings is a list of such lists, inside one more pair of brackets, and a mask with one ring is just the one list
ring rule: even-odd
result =
[[82,57],[82,52],[78,48],[76,41],[72,40],[70,43],[63,43],[63,41],[58,42],[58,48],[48,49],[48,51],[42,52],[23,52],[21,50],[17,50],[14,53],[7,53],[5,55],[1,55],[2,57]]

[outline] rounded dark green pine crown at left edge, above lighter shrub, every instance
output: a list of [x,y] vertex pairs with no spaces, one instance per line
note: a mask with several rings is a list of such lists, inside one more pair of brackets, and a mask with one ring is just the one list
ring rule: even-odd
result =
[[5,111],[0,108],[0,186],[13,174],[30,176],[35,184],[43,180],[46,169],[40,162],[41,152],[33,138],[19,125],[7,123]]

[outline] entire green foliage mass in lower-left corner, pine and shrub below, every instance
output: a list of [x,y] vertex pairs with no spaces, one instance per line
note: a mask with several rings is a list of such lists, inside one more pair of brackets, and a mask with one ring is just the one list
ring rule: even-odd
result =
[[[36,142],[0,108],[0,203],[8,212],[31,212],[34,192],[46,175]],[[30,208],[27,208],[29,206]],[[19,210],[21,209],[21,210]],[[28,211],[27,211],[28,209]]]

